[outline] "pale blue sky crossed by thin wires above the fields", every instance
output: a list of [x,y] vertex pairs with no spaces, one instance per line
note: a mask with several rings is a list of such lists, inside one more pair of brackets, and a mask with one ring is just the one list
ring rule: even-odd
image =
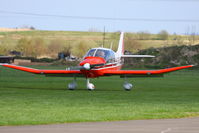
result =
[[62,31],[103,31],[105,27],[107,32],[199,33],[199,0],[0,0],[0,27],[23,26]]

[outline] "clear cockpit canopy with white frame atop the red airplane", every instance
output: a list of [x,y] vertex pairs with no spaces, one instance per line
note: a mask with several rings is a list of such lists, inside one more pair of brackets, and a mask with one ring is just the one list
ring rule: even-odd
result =
[[93,48],[88,51],[88,53],[84,57],[102,57],[106,60],[106,62],[113,62],[115,60],[115,52],[110,49],[105,48]]

